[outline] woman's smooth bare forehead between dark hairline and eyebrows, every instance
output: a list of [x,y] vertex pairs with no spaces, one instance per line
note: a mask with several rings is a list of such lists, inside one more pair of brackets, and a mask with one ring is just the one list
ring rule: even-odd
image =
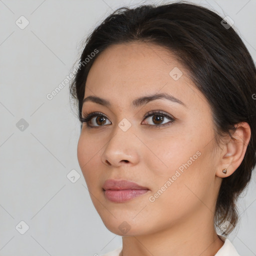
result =
[[[178,79],[173,70],[177,77],[181,75]],[[111,45],[97,56],[84,97],[95,95],[130,106],[134,98],[157,92],[169,93],[188,105],[205,101],[171,52],[152,43],[129,42]]]

